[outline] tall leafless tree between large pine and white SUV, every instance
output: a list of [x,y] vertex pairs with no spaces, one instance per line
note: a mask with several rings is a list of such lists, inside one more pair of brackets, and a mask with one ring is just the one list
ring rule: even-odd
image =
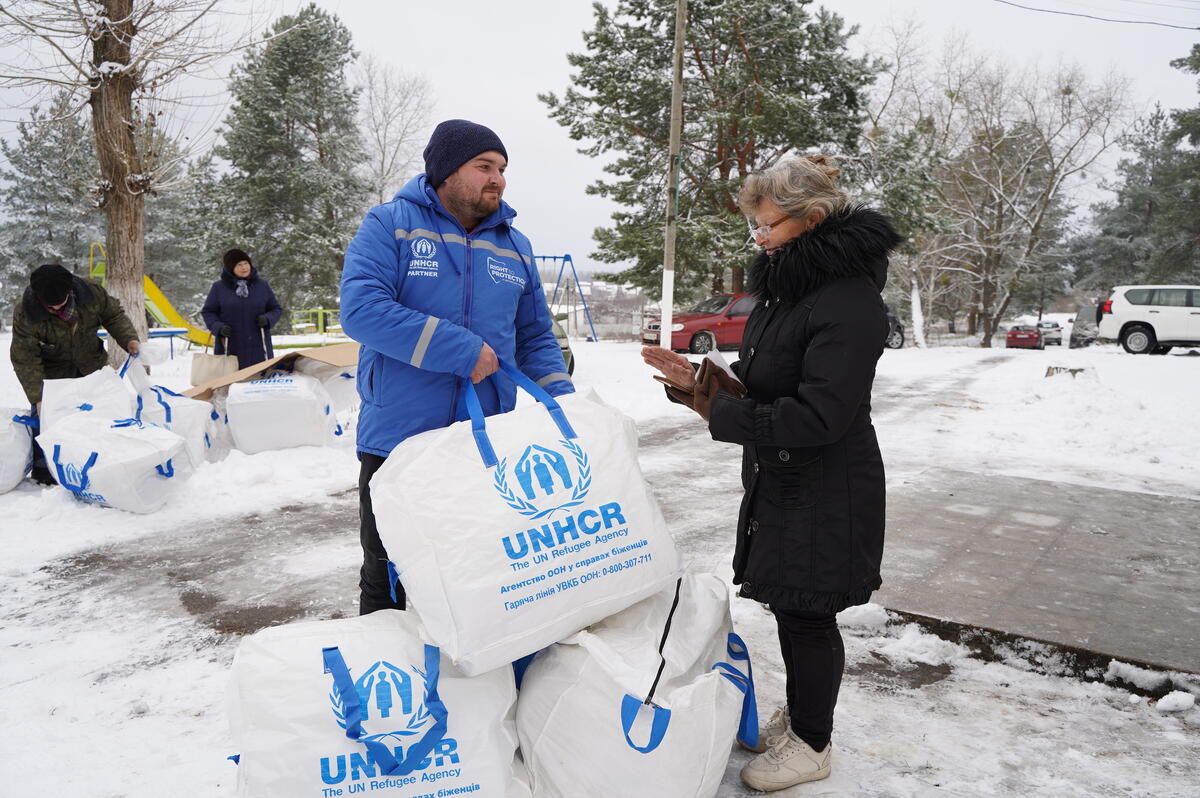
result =
[[894,52],[900,68],[874,119],[919,138],[936,222],[907,258],[914,317],[920,299],[931,310],[966,286],[968,331],[989,347],[1022,281],[1055,263],[1072,192],[1123,132],[1127,82],[1070,66],[1012,68],[962,38],[929,67],[911,36]]

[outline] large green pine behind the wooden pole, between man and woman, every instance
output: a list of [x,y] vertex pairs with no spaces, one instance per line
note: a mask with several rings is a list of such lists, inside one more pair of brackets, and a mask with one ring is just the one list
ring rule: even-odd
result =
[[[811,0],[692,0],[684,55],[676,288],[742,288],[748,246],[737,193],[750,172],[810,148],[848,152],[862,127],[868,59],[851,58],[840,17]],[[662,274],[673,0],[594,5],[595,26],[562,96],[541,95],[581,152],[610,156],[589,193],[623,210],[599,228],[595,257],[634,265],[618,278],[658,295]]]

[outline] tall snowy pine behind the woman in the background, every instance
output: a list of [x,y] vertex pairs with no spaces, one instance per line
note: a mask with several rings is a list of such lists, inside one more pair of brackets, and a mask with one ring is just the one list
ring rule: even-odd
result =
[[[350,32],[308,5],[276,20],[274,34],[235,68],[233,108],[217,148],[229,163],[212,212],[238,246],[256,256],[288,310],[329,306],[342,253],[367,202],[358,90],[347,67]],[[268,36],[270,36],[269,34]]]

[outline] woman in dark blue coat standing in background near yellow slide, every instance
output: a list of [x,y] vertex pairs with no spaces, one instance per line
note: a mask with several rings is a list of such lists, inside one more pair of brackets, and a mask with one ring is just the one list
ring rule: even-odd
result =
[[275,356],[271,328],[280,320],[283,308],[268,282],[258,276],[250,256],[241,250],[224,253],[221,280],[212,283],[200,313],[216,337],[212,350],[218,355],[238,355],[239,368]]

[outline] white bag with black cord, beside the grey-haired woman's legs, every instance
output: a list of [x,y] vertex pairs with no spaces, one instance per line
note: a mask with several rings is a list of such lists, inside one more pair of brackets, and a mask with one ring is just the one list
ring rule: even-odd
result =
[[725,584],[685,576],[539,653],[517,732],[535,798],[715,796],[734,738],[758,736]]

